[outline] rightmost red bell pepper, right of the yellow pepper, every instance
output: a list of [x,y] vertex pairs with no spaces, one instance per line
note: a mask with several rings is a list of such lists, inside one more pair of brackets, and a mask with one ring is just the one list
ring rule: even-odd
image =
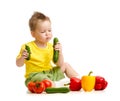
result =
[[107,87],[108,82],[105,80],[104,77],[96,76],[95,79],[96,79],[94,87],[95,90],[104,90]]

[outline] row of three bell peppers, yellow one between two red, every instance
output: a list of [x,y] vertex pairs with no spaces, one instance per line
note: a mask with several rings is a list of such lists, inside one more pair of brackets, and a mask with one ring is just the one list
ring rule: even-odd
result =
[[70,78],[70,83],[64,84],[64,86],[69,85],[71,91],[80,91],[81,89],[85,92],[104,90],[108,85],[105,78],[102,76],[91,76],[91,74],[92,71],[88,75],[83,75],[81,79],[72,77]]

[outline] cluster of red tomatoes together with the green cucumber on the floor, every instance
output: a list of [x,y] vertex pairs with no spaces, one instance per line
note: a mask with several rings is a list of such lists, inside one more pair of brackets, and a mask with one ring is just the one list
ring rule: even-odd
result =
[[30,81],[27,84],[27,88],[31,93],[41,94],[46,92],[50,93],[68,93],[70,89],[68,87],[52,87],[52,82],[45,79],[43,81]]

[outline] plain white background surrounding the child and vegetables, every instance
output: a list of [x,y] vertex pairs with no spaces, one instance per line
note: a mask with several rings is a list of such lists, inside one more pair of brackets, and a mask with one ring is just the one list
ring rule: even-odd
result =
[[[56,95],[27,93],[24,85],[25,69],[18,68],[15,60],[21,45],[33,40],[28,20],[34,11],[51,18],[53,36],[57,36],[63,46],[65,61],[80,76],[92,70],[93,75],[105,77],[108,81],[105,91]],[[1,0],[0,33],[0,99],[119,99],[119,0]]]

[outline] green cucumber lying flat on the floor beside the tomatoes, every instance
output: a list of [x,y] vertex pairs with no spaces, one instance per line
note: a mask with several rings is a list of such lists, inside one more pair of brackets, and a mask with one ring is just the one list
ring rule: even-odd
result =
[[68,87],[48,87],[45,89],[46,93],[68,93],[70,89]]

